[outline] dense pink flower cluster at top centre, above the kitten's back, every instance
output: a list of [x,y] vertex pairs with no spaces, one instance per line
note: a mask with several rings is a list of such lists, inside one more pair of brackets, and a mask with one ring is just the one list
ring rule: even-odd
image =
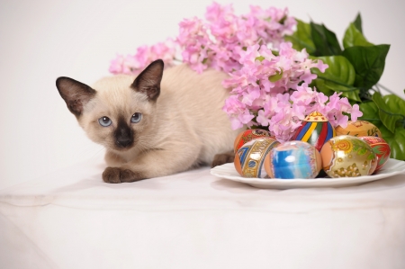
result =
[[238,70],[240,51],[255,44],[278,48],[285,34],[293,33],[296,24],[287,9],[250,7],[250,13],[236,15],[232,5],[211,4],[199,18],[180,22],[176,41],[182,49],[183,62],[198,73],[208,67],[227,73]]

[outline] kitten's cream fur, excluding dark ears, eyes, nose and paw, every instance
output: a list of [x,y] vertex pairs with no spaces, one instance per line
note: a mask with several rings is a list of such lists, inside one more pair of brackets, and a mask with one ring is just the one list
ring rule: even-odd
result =
[[[156,103],[130,88],[135,76],[105,77],[92,86],[97,94],[85,104],[78,121],[90,139],[106,148],[108,166],[143,178],[211,165],[216,154],[232,150],[240,131],[231,130],[221,111],[229,95],[221,86],[226,77],[215,70],[199,75],[184,65],[166,69]],[[139,123],[130,124],[136,134],[134,146],[115,148],[112,131],[118,116],[130,122],[134,112],[143,114]],[[103,116],[112,120],[111,126],[98,123]]]

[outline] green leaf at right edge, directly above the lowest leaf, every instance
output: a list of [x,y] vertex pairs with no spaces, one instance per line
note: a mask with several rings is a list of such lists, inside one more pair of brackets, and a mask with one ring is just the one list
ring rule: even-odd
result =
[[405,101],[394,94],[383,97],[380,93],[373,94],[373,101],[379,108],[383,125],[394,132],[397,121],[405,119]]

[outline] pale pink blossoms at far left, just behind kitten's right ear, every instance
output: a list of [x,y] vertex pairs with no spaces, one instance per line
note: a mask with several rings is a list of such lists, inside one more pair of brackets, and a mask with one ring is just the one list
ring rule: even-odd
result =
[[167,39],[153,46],[141,46],[135,55],[117,55],[112,59],[109,71],[112,74],[137,75],[152,61],[161,58],[165,62],[165,67],[175,65],[175,41]]

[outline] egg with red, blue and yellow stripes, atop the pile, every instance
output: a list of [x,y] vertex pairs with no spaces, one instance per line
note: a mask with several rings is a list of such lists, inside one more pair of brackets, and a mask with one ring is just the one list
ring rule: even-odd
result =
[[320,112],[312,112],[302,121],[302,126],[295,130],[292,140],[308,142],[320,151],[320,148],[335,136],[335,129],[328,119]]

